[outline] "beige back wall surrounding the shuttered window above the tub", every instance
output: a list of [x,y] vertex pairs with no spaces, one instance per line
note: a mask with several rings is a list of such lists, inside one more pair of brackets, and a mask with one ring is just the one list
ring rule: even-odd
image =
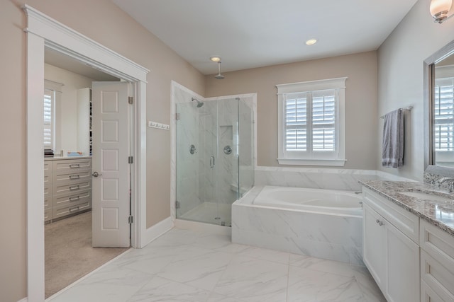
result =
[[206,96],[257,93],[258,165],[277,166],[277,84],[347,76],[344,168],[375,169],[377,157],[377,54],[362,52],[294,64],[206,76]]

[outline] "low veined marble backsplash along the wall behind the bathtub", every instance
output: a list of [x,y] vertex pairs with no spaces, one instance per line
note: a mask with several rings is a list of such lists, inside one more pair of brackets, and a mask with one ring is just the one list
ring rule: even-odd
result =
[[255,185],[360,191],[359,180],[404,180],[377,170],[336,168],[256,167]]

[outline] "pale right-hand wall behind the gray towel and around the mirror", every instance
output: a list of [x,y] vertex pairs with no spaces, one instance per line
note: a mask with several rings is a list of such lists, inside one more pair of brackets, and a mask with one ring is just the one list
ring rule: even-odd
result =
[[[415,180],[423,179],[424,170],[423,61],[454,39],[454,19],[434,23],[428,9],[430,2],[419,0],[378,50],[379,115],[408,105],[414,108],[406,114],[404,167],[381,168],[380,153],[377,167]],[[381,127],[382,123],[377,128],[379,146]]]

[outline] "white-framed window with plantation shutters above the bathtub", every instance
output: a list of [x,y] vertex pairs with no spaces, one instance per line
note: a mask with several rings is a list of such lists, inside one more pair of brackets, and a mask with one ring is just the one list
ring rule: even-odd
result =
[[345,164],[346,79],[277,85],[279,164]]

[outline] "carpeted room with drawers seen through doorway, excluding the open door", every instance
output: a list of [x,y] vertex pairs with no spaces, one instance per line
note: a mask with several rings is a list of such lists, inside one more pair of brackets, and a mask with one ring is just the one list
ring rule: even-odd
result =
[[[128,248],[93,248],[92,240],[92,223],[98,219],[92,217],[92,205],[99,202],[93,195],[93,184],[99,182],[92,179],[92,162],[99,162],[93,143],[99,145],[100,139],[92,135],[94,119],[99,119],[93,110],[92,83],[119,83],[121,79],[48,47],[44,77],[45,113],[49,115],[44,136],[50,151],[44,160],[45,298],[49,298]],[[65,164],[80,168],[68,173],[62,168]],[[129,187],[123,190],[128,194]]]

